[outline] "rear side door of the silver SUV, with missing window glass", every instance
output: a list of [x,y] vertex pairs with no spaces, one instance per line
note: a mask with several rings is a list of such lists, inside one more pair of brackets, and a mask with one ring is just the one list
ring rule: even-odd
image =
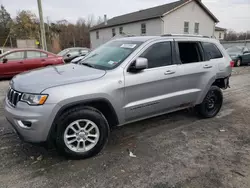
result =
[[178,77],[174,86],[176,105],[194,106],[201,100],[204,90],[212,83],[216,64],[206,59],[201,42],[193,39],[175,39]]

